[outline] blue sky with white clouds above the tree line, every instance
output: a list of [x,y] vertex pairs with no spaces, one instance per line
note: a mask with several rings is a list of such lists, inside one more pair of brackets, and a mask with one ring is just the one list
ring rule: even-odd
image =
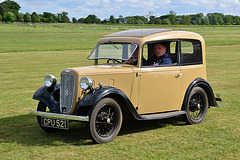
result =
[[[0,0],[3,2],[4,0]],[[113,15],[154,16],[169,14],[189,15],[197,13],[223,13],[240,16],[240,0],[13,0],[17,2],[21,13],[50,12],[53,14],[68,12],[68,17],[86,18],[90,14],[101,20]]]

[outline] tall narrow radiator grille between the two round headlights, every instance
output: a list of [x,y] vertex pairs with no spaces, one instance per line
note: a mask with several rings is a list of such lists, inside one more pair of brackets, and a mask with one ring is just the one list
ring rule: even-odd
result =
[[76,76],[74,74],[62,74],[60,82],[60,110],[61,113],[69,113],[72,109],[75,92]]

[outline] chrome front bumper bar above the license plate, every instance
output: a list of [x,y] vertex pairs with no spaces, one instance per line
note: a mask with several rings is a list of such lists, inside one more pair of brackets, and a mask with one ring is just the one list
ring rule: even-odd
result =
[[49,117],[49,118],[60,118],[66,120],[74,120],[74,121],[89,121],[88,116],[75,116],[75,115],[67,115],[67,114],[57,114],[57,113],[49,113],[49,112],[40,112],[40,111],[33,111],[30,109],[30,114],[42,117]]

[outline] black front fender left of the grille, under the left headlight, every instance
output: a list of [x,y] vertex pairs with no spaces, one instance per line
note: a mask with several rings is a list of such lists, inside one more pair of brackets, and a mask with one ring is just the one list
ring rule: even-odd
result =
[[57,83],[54,87],[46,87],[45,85],[40,87],[33,95],[33,99],[39,100],[46,104],[52,113],[60,113],[60,83]]

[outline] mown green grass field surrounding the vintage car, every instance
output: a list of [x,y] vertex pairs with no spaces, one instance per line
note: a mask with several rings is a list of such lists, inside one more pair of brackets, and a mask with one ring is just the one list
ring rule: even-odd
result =
[[[171,28],[206,40],[207,73],[223,102],[198,125],[181,118],[124,123],[117,138],[93,144],[83,123],[47,134],[36,117],[34,92],[46,74],[92,65],[88,54],[103,35],[132,28]],[[240,26],[167,27],[0,24],[0,159],[240,159]]]

